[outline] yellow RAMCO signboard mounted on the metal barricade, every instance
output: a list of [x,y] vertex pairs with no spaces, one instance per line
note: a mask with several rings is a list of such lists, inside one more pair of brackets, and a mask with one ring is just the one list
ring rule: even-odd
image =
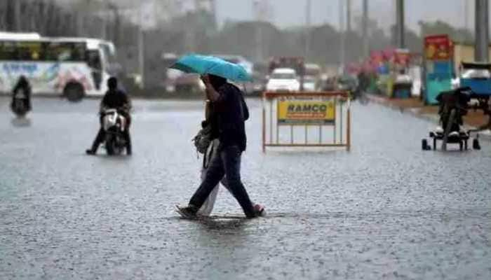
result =
[[332,125],[336,120],[334,100],[278,100],[278,125]]

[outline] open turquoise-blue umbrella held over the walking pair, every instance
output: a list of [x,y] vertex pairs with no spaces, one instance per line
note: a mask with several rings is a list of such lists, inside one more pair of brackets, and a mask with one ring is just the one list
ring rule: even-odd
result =
[[186,73],[213,74],[236,82],[252,80],[243,66],[209,55],[184,55],[170,68]]

